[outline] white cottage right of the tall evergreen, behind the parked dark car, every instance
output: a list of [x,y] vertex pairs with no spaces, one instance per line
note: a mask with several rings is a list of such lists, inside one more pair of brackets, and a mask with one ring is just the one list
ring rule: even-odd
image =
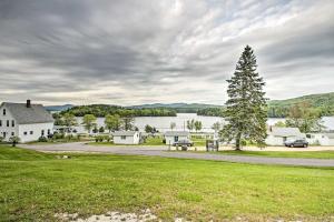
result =
[[301,133],[298,128],[269,127],[267,134],[265,142],[268,145],[284,145],[288,140],[305,139],[305,134]]

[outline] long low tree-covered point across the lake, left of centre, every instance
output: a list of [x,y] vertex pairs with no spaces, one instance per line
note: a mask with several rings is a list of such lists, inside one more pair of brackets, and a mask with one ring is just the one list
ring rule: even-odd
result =
[[61,114],[71,113],[76,117],[85,117],[86,114],[94,114],[95,117],[104,118],[108,114],[125,117],[176,117],[176,111],[165,108],[155,109],[130,109],[117,105],[107,104],[90,104],[78,105],[69,110],[62,111]]

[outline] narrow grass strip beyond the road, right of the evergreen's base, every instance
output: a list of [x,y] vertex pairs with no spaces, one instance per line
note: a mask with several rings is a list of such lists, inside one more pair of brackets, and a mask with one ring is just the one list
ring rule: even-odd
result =
[[306,158],[306,159],[334,159],[334,151],[219,151],[212,152],[226,155],[256,155],[268,158]]

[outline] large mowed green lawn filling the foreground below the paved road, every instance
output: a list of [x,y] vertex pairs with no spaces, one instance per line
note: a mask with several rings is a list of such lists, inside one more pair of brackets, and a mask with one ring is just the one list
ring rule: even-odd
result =
[[167,221],[328,221],[334,215],[334,169],[70,155],[0,147],[0,221],[146,208]]

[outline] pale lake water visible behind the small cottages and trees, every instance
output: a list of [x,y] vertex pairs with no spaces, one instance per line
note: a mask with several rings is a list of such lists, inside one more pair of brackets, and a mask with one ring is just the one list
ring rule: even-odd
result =
[[[77,118],[78,123],[82,123],[82,118]],[[187,120],[199,120],[202,121],[204,132],[213,132],[213,124],[215,122],[224,123],[224,118],[218,117],[204,117],[204,115],[197,115],[196,113],[177,113],[177,117],[138,117],[135,118],[135,125],[140,130],[144,131],[145,125],[149,124],[151,127],[155,127],[160,132],[165,132],[170,130],[170,122],[176,123],[175,130],[187,130]],[[269,118],[267,123],[269,125],[275,124],[278,121],[284,121],[284,118]],[[327,128],[326,130],[334,130],[334,117],[325,117],[323,118],[323,123]],[[97,119],[98,127],[105,125],[105,118],[98,118]],[[78,132],[85,132],[84,127],[77,127]]]

